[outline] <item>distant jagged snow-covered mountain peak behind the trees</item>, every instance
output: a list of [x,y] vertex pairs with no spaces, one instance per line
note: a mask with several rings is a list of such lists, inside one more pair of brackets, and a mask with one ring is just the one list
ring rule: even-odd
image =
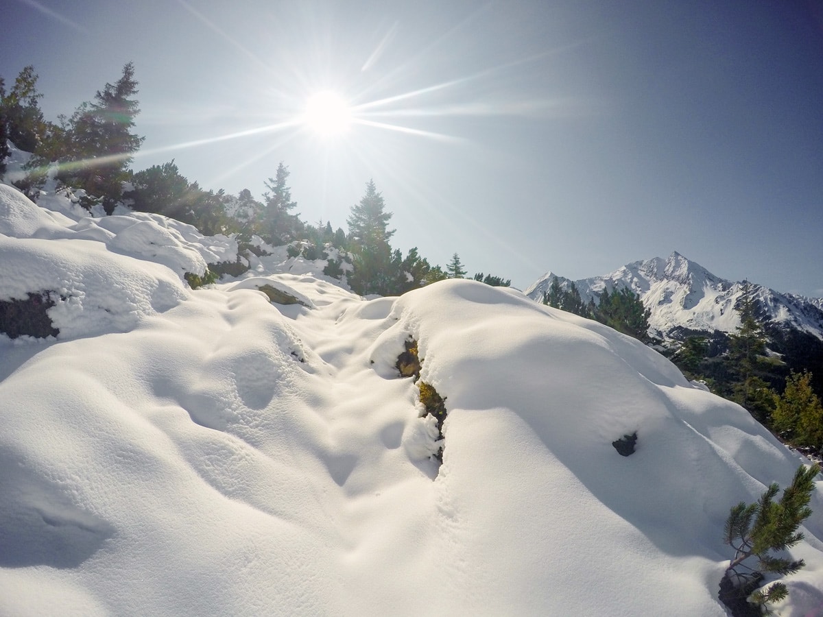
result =
[[[531,285],[526,294],[541,301],[555,274],[547,272]],[[558,276],[558,281],[569,280]],[[649,326],[654,336],[677,337],[681,332],[733,332],[740,325],[734,308],[746,293],[743,282],[726,281],[680,253],[667,259],[654,257],[625,265],[606,276],[594,276],[574,281],[581,297],[595,303],[604,289],[628,287],[639,294],[651,310]],[[750,293],[760,308],[760,317],[783,327],[809,332],[823,339],[823,307],[821,299],[780,294],[763,285],[750,284]]]

